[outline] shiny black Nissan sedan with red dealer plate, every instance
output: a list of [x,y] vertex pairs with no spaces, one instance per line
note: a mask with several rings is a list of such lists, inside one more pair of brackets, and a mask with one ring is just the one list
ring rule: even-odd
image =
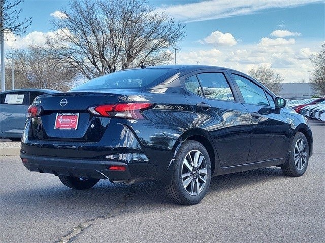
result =
[[307,119],[253,78],[212,66],[142,66],[94,78],[28,109],[21,159],[73,189],[100,179],[164,183],[199,203],[212,176],[269,166],[301,176]]

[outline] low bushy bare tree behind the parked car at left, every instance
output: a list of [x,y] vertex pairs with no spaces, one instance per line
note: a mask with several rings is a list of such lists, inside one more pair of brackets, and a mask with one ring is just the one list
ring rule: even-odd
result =
[[66,91],[75,82],[76,71],[62,61],[53,60],[47,56],[44,50],[30,47],[25,50],[12,51],[15,57],[17,88]]

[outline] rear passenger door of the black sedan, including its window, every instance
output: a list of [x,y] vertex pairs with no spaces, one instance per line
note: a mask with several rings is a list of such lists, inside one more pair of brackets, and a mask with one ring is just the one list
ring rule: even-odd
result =
[[213,138],[221,166],[247,163],[250,118],[223,70],[206,70],[185,77],[185,87],[196,95],[188,100]]

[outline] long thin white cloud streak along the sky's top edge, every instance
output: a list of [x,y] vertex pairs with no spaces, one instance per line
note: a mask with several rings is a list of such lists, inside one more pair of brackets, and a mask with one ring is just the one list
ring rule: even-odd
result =
[[173,16],[177,21],[195,22],[247,15],[270,8],[293,8],[322,1],[323,0],[210,0],[199,3],[164,6],[158,8],[157,11],[164,11],[168,15]]

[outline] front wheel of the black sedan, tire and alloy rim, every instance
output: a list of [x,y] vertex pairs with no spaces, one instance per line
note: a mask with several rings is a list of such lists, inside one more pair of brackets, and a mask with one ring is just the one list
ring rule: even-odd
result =
[[[304,144],[303,149],[299,146],[301,142]],[[288,161],[281,166],[282,172],[287,176],[302,176],[307,170],[309,160],[309,144],[303,133],[296,133],[290,150]]]

